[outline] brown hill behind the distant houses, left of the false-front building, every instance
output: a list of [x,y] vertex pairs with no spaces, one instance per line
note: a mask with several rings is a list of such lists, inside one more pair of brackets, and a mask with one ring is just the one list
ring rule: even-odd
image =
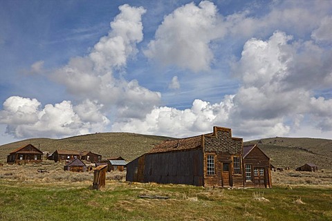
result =
[[53,153],[55,150],[91,151],[99,153],[102,158],[121,156],[125,160],[133,160],[147,153],[156,144],[173,139],[154,135],[136,133],[93,133],[67,137],[64,139],[33,138],[0,146],[0,160],[7,160],[7,155],[26,144],[33,144],[43,152]]

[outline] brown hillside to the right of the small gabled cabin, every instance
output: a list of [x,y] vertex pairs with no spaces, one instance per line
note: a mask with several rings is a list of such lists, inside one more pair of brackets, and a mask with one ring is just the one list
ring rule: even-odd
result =
[[276,167],[295,169],[313,163],[318,169],[332,169],[332,140],[273,137],[245,142],[252,143],[258,144]]

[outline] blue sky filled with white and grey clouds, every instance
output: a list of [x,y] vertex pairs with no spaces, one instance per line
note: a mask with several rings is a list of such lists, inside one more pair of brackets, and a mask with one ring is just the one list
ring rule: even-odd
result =
[[332,139],[332,1],[0,1],[0,144]]

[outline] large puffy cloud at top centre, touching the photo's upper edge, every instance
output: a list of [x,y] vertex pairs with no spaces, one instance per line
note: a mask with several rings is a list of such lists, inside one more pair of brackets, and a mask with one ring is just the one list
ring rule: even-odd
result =
[[214,59],[210,42],[224,34],[221,27],[216,28],[217,19],[216,6],[210,1],[177,8],[164,18],[145,55],[163,65],[208,70]]

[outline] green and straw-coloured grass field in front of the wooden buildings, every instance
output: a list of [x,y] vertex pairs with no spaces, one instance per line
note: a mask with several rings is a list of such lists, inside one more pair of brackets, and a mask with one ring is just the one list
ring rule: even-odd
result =
[[0,220],[332,220],[332,171],[272,176],[272,189],[205,189],[131,183],[125,172],[112,171],[105,188],[95,191],[92,171],[64,171],[51,161],[5,163]]

